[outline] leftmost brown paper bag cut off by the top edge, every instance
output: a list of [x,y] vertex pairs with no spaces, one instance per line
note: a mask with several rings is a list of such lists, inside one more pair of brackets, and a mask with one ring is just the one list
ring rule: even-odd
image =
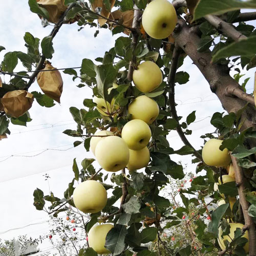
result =
[[37,4],[49,12],[49,22],[57,23],[67,6],[65,0],[36,0]]

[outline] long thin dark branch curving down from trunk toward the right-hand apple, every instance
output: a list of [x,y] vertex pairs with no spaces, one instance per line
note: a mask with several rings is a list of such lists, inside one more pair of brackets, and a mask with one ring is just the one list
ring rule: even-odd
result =
[[185,145],[188,145],[189,147],[191,147],[194,151],[194,155],[200,160],[203,161],[201,154],[199,154],[195,148],[190,144],[190,142],[187,140],[185,134],[182,131],[181,125],[179,123],[179,118],[177,115],[177,111],[176,111],[176,105],[175,105],[175,75],[176,75],[176,71],[177,71],[177,66],[178,66],[178,60],[179,60],[179,56],[180,56],[180,51],[181,49],[175,45],[174,47],[174,51],[173,51],[173,59],[172,59],[172,63],[170,65],[170,71],[169,71],[169,75],[168,75],[168,84],[170,87],[170,92],[168,95],[168,100],[169,100],[169,106],[170,106],[170,113],[172,113],[172,117],[177,121],[177,126],[176,126],[176,131],[179,134],[181,140],[183,141],[183,143]]

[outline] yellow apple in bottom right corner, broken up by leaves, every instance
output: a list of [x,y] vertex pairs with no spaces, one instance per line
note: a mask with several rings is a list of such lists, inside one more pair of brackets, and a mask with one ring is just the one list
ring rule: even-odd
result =
[[[230,225],[230,233],[229,233],[229,235],[223,236],[223,238],[221,237],[221,234],[222,234],[221,226],[219,227],[218,243],[219,243],[219,245],[220,245],[222,250],[226,249],[224,241],[227,240],[228,242],[231,242],[232,239],[234,238],[234,231],[236,231],[237,228],[241,228],[242,229],[243,226],[244,226],[241,223],[229,223],[229,225]],[[246,238],[247,240],[249,240],[248,231],[247,230],[245,231],[245,233],[243,235],[243,238]],[[247,242],[243,248],[244,248],[244,250],[246,252],[249,252],[249,243]]]

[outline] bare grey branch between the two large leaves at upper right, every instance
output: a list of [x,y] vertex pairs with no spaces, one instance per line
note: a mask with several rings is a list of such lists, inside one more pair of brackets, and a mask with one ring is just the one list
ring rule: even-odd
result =
[[234,41],[247,38],[245,35],[237,31],[231,24],[224,22],[224,20],[218,16],[206,15],[204,18],[217,30],[231,37]]

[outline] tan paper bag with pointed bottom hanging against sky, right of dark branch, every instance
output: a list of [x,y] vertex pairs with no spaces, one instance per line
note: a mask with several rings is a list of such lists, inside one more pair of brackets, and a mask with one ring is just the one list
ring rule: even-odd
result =
[[[55,69],[49,62],[43,70]],[[60,103],[63,81],[58,70],[39,72],[37,82],[41,90],[50,98]]]

